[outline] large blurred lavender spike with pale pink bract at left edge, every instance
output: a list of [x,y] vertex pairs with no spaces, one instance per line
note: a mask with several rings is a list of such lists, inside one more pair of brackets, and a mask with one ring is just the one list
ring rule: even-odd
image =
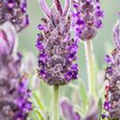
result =
[[[31,110],[26,73],[21,71],[21,54],[14,51],[17,35],[14,26],[0,26],[0,118],[27,120]],[[14,53],[14,54],[13,54]]]

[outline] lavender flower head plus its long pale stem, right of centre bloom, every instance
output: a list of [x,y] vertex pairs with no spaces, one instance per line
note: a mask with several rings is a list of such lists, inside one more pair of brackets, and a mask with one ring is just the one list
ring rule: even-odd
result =
[[94,53],[92,39],[102,27],[103,11],[99,0],[72,0],[73,2],[73,27],[76,39],[85,41],[87,69],[89,78],[89,92],[95,96],[96,82],[94,77]]

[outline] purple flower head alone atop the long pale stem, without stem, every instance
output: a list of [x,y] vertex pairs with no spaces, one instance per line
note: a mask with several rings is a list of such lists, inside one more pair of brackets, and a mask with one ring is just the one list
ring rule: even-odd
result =
[[99,0],[72,0],[73,27],[81,40],[93,39],[102,27],[103,11]]

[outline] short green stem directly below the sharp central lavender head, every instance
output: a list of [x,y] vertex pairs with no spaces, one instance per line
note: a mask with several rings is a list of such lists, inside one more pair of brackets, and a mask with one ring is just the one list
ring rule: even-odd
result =
[[54,113],[53,120],[59,120],[59,86],[54,86]]

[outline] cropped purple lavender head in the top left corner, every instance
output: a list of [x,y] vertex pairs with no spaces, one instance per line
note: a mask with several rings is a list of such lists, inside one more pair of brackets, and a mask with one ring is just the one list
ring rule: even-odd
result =
[[26,0],[0,0],[0,25],[10,21],[19,32],[29,24]]

